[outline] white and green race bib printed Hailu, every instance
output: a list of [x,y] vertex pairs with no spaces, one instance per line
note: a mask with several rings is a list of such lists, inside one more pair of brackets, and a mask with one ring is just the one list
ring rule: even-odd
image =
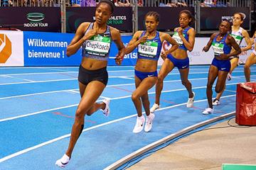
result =
[[144,57],[156,57],[158,42],[149,41],[142,42],[138,45],[139,55]]

